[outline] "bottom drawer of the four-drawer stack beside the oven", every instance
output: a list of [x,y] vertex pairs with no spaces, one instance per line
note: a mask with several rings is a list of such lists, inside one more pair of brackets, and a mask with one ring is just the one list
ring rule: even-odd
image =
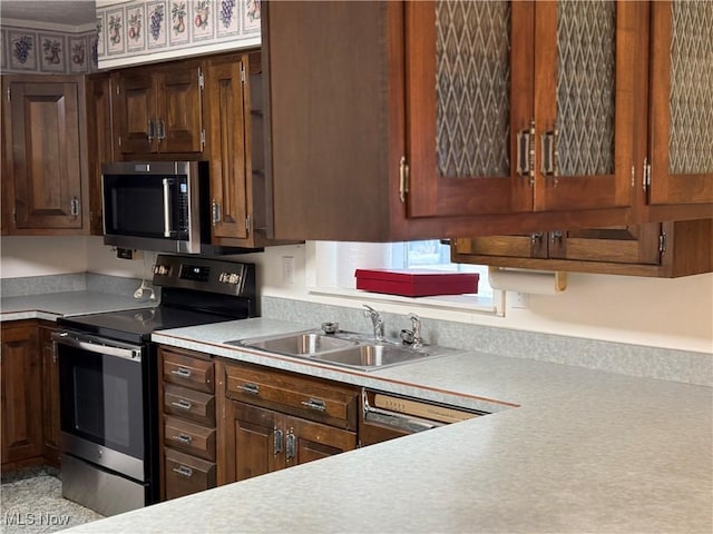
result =
[[183,497],[215,487],[215,463],[213,462],[167,448],[164,467],[166,498]]

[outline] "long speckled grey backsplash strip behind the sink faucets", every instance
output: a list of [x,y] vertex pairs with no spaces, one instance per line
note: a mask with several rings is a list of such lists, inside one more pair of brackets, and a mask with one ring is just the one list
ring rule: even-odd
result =
[[[371,328],[361,308],[305,300],[263,296],[262,315],[315,328],[324,322],[336,322],[344,330]],[[382,317],[390,337],[410,327],[403,315],[383,313]],[[423,319],[422,335],[433,345],[713,387],[713,356],[704,353],[437,319]]]

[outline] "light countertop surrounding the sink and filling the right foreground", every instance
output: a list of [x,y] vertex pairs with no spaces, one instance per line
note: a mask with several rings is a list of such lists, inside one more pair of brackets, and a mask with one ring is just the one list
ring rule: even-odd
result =
[[223,342],[154,340],[490,415],[74,527],[111,532],[713,532],[713,389],[478,352],[362,373]]

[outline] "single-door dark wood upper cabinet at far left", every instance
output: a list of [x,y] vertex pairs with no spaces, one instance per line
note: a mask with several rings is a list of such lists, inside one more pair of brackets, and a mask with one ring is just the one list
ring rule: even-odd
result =
[[3,233],[88,230],[82,77],[2,77]]

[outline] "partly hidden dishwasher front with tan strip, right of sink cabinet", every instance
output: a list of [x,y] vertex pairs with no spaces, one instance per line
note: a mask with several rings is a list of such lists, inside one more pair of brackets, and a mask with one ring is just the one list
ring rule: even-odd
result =
[[364,447],[487,414],[363,388],[360,445]]

